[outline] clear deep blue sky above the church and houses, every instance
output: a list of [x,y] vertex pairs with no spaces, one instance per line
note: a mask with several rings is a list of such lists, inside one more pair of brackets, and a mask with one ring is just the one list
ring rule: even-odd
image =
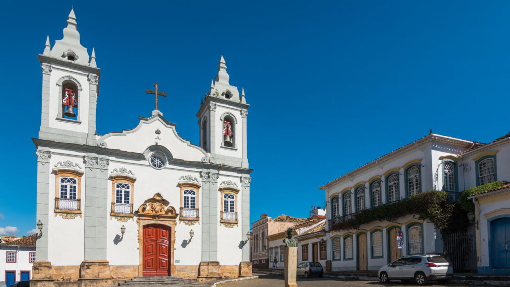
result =
[[[158,82],[177,131],[198,143],[200,97],[223,54],[244,87],[251,221],[324,204],[317,188],[428,133],[508,132],[507,1],[4,1],[0,10],[0,233],[35,228],[46,35],[74,6],[101,68],[97,132],[137,125]],[[7,226],[11,226],[6,230]],[[14,229],[15,228],[15,229]],[[18,231],[16,231],[18,230]]]

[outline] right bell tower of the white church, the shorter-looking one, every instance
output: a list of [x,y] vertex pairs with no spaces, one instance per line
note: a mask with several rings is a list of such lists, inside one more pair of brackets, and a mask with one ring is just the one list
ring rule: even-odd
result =
[[197,113],[200,147],[216,164],[248,168],[246,157],[246,116],[248,107],[236,86],[228,83],[226,63],[221,56],[218,74]]

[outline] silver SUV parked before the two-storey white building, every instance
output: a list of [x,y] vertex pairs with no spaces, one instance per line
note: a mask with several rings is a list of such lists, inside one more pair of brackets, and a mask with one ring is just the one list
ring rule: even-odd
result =
[[387,283],[393,279],[414,280],[423,285],[428,280],[447,280],[453,277],[453,268],[445,257],[437,254],[401,257],[379,268],[379,280]]

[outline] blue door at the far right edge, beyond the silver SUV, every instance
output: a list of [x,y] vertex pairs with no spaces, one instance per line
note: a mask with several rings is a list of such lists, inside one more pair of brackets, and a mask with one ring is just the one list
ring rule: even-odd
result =
[[492,268],[510,268],[510,218],[491,222]]

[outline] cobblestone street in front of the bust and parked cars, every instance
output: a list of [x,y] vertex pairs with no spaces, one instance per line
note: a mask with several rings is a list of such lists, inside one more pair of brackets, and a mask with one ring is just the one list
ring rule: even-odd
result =
[[[376,286],[399,286],[399,287],[416,287],[416,284],[404,284],[400,281],[382,284],[379,281],[364,281],[364,280],[342,280],[334,278],[297,278],[299,287],[376,287]],[[429,286],[445,287],[445,286],[463,286],[463,287],[476,287],[482,285],[469,285],[469,284],[439,284],[430,282]],[[240,280],[236,282],[228,282],[219,284],[218,287],[284,287],[283,275],[261,275],[261,278]]]

